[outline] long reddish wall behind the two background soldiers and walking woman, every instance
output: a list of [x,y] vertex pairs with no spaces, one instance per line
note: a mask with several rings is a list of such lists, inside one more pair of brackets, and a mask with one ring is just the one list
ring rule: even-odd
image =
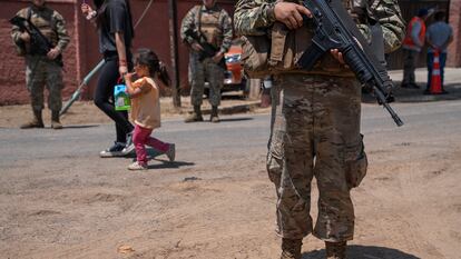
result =
[[[177,1],[177,30],[187,11],[200,0]],[[8,19],[27,7],[29,0],[2,0],[0,9],[0,104],[29,103],[29,93],[26,89],[24,63],[21,57],[16,56],[12,46]],[[149,0],[131,0],[134,22],[143,13]],[[218,0],[229,14],[233,14],[234,0]],[[63,100],[67,100],[78,87],[80,80],[96,66],[101,56],[98,51],[96,29],[80,14],[80,0],[47,0],[47,4],[59,11],[67,21],[67,29],[71,42],[63,53],[65,58],[65,90]],[[178,39],[180,86],[187,88],[188,52]],[[168,1],[154,0],[144,20],[136,29],[134,51],[137,48],[154,49],[160,59],[170,66]],[[98,74],[90,81],[89,88],[82,92],[84,99],[91,99]]]

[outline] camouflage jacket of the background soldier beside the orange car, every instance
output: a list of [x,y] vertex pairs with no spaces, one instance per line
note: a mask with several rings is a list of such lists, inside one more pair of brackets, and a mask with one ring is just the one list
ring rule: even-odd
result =
[[180,38],[184,42],[187,44],[194,43],[194,39],[186,36],[186,31],[188,29],[197,30],[199,27],[198,23],[198,11],[202,12],[209,12],[209,13],[216,13],[218,12],[219,16],[219,34],[217,36],[218,39],[216,42],[219,42],[220,46],[216,46],[220,49],[223,53],[227,52],[228,49],[232,46],[232,38],[233,38],[233,29],[232,29],[232,19],[230,16],[226,12],[226,10],[219,8],[218,6],[215,6],[214,8],[207,10],[204,6],[196,6],[193,9],[190,9],[187,14],[184,17],[182,27],[180,27]]

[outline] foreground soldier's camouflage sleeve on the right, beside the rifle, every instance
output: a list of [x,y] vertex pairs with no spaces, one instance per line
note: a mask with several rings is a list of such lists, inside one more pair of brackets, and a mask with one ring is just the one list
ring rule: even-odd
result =
[[405,36],[405,23],[398,0],[374,0],[370,9],[383,29],[384,51],[390,53],[396,50]]

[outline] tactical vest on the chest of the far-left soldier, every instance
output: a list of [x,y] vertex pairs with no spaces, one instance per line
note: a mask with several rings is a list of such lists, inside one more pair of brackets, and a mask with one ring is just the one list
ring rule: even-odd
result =
[[[32,7],[21,10],[20,16],[30,19],[30,21],[40,30],[40,32],[51,42],[58,44],[58,33],[56,32],[56,20],[53,10],[45,7],[40,10]],[[26,44],[26,52],[30,51],[30,46]]]

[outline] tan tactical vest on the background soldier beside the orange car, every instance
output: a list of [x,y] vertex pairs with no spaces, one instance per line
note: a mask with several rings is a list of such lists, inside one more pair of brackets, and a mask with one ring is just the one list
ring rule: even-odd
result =
[[223,43],[223,30],[220,27],[222,9],[217,11],[204,12],[203,6],[196,7],[196,24],[198,31],[205,37],[206,41],[216,48]]

